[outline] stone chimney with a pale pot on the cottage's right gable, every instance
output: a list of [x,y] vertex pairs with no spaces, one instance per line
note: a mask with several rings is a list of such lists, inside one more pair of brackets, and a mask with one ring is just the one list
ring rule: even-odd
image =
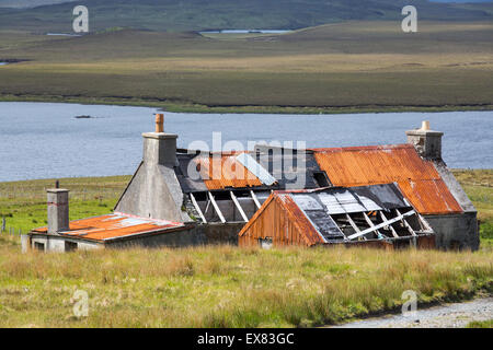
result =
[[442,159],[442,137],[444,132],[429,129],[429,121],[423,121],[421,129],[405,131],[408,143],[416,149],[422,158],[429,160]]

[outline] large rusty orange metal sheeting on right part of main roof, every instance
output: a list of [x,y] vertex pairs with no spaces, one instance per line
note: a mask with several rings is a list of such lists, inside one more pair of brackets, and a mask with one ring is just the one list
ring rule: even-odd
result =
[[421,214],[462,212],[433,162],[423,160],[412,144],[312,151],[320,168],[335,186],[398,183]]

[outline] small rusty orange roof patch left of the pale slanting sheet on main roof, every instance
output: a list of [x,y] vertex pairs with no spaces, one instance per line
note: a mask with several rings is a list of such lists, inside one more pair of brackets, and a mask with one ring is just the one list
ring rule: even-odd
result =
[[262,186],[262,182],[238,160],[238,153],[196,158],[197,170],[208,190]]

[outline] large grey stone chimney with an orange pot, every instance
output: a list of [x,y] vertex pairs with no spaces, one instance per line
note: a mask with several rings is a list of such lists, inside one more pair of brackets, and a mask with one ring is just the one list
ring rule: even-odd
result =
[[142,137],[145,163],[148,165],[175,165],[177,135],[164,132],[164,116],[162,114],[156,115],[156,131],[145,132]]

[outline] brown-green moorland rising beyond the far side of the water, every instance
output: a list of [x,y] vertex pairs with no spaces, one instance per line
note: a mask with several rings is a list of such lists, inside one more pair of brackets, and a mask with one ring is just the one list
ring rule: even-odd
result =
[[77,38],[0,31],[0,101],[175,112],[491,109],[493,24],[346,22],[259,37],[115,30]]

